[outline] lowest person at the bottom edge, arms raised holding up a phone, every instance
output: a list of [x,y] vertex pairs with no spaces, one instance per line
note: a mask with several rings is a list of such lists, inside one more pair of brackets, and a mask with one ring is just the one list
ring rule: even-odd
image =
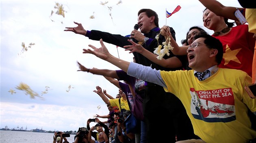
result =
[[98,141],[94,141],[93,139],[91,139],[92,131],[94,130],[94,127],[95,126],[91,127],[89,130],[88,143],[109,143],[108,141],[109,137],[106,135],[104,130],[98,133]]

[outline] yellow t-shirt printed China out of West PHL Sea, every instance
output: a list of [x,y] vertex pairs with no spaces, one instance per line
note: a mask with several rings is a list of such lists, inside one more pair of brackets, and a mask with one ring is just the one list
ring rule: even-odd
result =
[[256,111],[256,100],[245,91],[252,78],[244,71],[219,68],[199,81],[194,70],[161,71],[166,92],[183,103],[195,135],[206,143],[247,143],[256,137],[247,116],[247,107]]

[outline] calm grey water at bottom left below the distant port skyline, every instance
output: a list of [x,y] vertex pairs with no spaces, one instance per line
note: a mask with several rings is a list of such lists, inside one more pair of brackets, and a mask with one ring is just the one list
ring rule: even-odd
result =
[[[0,143],[52,143],[54,133],[22,132],[0,130]],[[69,143],[74,142],[75,135],[67,137]]]

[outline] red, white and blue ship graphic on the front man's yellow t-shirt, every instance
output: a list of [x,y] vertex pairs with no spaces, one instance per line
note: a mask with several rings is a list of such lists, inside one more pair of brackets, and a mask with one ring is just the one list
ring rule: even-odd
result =
[[198,90],[190,88],[191,113],[205,122],[231,122],[236,120],[234,95],[231,88]]

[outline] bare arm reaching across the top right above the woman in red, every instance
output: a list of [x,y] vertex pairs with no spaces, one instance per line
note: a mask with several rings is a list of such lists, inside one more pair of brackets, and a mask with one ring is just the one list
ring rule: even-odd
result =
[[[218,16],[225,17],[228,19],[236,20],[234,12],[236,11],[235,7],[232,6],[223,6],[217,0],[199,0],[206,8],[215,13]],[[238,8],[241,11],[243,8]]]

